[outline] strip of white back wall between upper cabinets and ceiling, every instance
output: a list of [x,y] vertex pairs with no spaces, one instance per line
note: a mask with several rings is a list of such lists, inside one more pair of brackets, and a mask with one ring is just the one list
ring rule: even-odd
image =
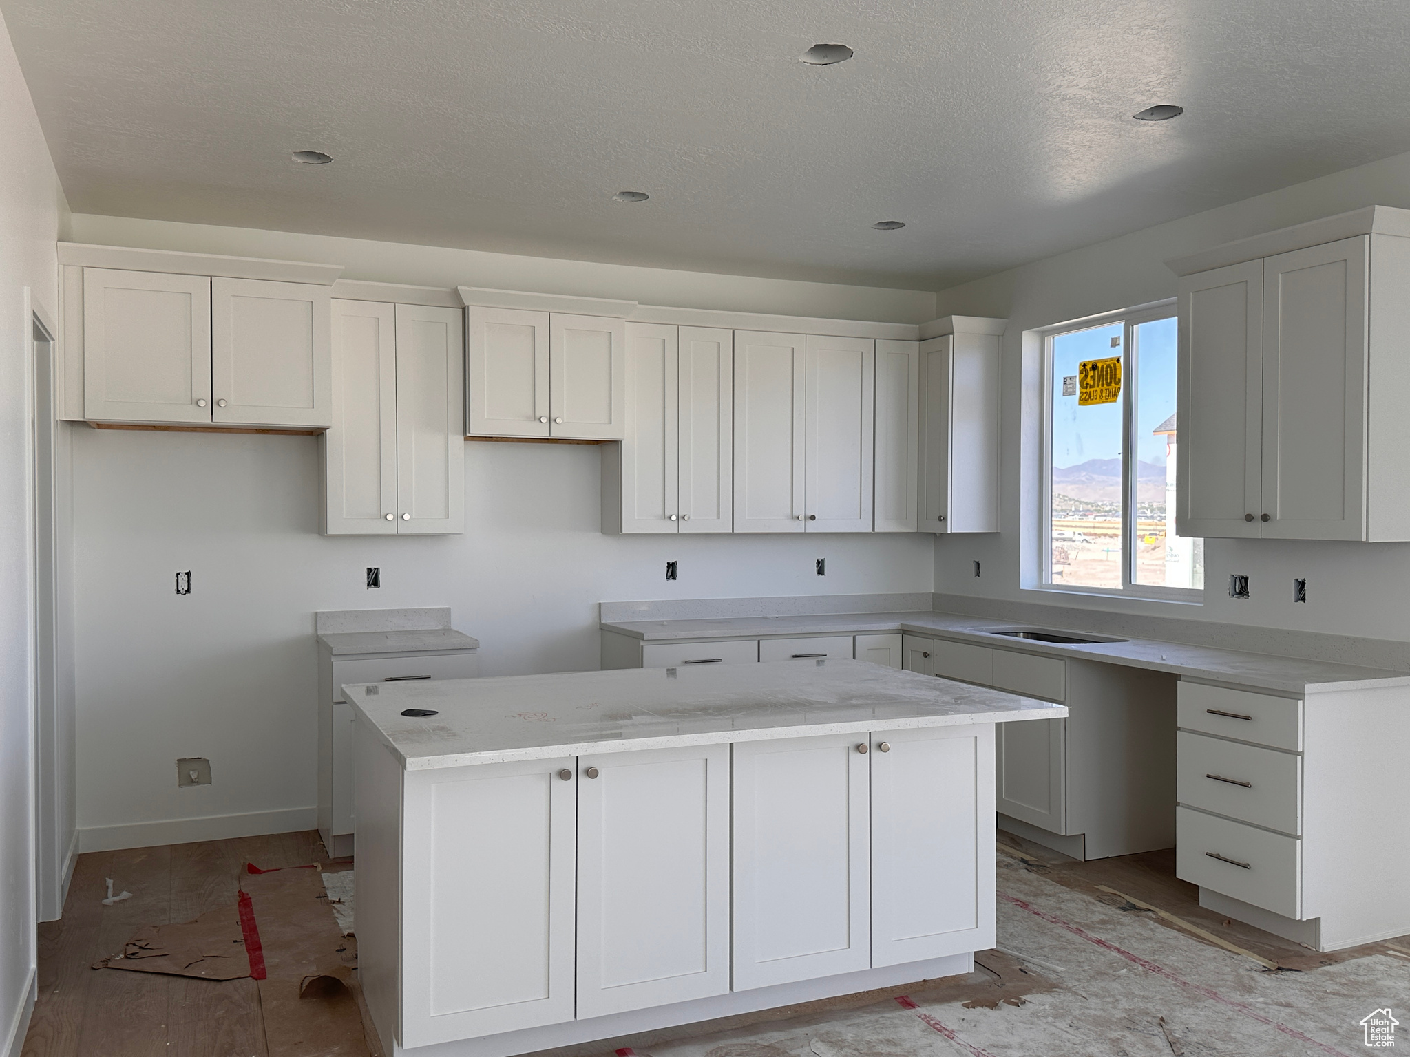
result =
[[314,261],[345,266],[343,278],[415,286],[486,286],[498,290],[622,297],[642,304],[729,311],[773,311],[835,320],[925,323],[935,319],[931,290],[757,279],[666,268],[560,261],[475,249],[374,242],[289,231],[73,216],[75,242],[185,249],[196,254]]

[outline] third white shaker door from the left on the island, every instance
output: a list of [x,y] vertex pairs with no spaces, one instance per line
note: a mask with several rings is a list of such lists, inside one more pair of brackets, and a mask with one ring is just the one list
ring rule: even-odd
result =
[[871,964],[866,736],[735,744],[735,991]]

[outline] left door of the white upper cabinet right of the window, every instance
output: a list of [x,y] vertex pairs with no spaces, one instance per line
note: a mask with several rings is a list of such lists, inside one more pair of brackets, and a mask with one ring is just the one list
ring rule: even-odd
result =
[[1179,347],[1176,531],[1196,537],[1258,537],[1263,444],[1262,261],[1180,279]]

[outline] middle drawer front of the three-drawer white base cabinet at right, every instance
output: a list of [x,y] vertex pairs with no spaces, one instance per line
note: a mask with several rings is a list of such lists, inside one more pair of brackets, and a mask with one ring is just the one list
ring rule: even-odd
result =
[[1301,834],[1301,771],[1300,755],[1276,748],[1176,736],[1176,799],[1255,826]]

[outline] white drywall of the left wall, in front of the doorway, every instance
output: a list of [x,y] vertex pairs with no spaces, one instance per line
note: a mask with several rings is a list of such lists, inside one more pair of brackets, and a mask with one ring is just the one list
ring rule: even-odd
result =
[[0,144],[0,1053],[18,1053],[35,964],[27,300],[56,319],[68,207],[3,21]]

